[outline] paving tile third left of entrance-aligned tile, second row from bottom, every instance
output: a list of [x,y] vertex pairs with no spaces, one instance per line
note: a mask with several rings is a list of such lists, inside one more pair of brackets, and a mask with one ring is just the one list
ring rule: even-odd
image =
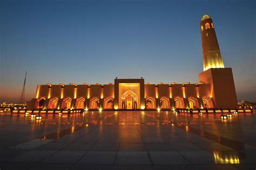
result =
[[42,150],[31,150],[20,154],[9,161],[14,162],[39,162],[46,157],[49,157],[51,154],[55,153],[56,151],[42,151]]

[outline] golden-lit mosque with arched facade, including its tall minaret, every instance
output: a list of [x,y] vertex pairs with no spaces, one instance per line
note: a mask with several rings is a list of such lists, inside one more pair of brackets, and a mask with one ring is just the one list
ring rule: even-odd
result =
[[170,110],[237,108],[231,68],[224,68],[212,19],[200,22],[204,72],[191,84],[144,83],[144,79],[114,79],[109,84],[38,85],[29,109]]

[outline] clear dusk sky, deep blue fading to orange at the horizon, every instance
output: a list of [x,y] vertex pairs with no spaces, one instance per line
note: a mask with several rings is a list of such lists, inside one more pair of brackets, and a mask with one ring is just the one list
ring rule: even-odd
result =
[[255,100],[254,1],[0,1],[0,102],[36,84],[198,82],[200,19],[212,17],[238,100]]

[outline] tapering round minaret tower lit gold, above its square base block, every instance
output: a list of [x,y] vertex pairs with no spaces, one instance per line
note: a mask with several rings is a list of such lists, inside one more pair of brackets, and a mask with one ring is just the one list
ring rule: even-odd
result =
[[204,15],[201,18],[200,29],[204,71],[209,68],[224,68],[217,36],[210,16]]

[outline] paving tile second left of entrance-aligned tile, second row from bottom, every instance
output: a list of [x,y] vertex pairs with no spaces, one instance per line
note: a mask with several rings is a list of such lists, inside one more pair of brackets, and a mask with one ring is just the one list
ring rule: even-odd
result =
[[58,151],[50,157],[44,159],[42,162],[75,164],[85,153],[85,151]]

